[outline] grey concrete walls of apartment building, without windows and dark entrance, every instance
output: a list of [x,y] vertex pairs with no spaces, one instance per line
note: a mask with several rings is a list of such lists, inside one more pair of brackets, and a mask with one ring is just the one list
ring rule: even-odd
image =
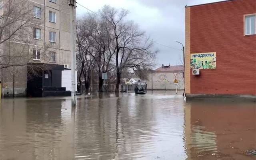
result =
[[[41,9],[40,17],[32,18],[27,30],[28,34],[24,36],[24,42],[6,41],[0,46],[2,53],[24,52],[33,55],[33,50],[41,51],[39,60],[31,58],[32,63],[49,63],[49,64],[68,64],[71,67],[70,51],[70,6],[66,0],[56,0],[56,3],[50,0],[28,0],[28,5],[33,12],[34,6]],[[56,22],[50,22],[49,12],[56,14]],[[41,30],[41,38],[33,38],[33,28]],[[56,42],[49,41],[49,32],[56,32]],[[55,62],[50,61],[50,53],[55,52]],[[22,61],[22,60],[21,60]],[[26,96],[27,69],[26,66],[15,66],[0,70],[2,81],[2,94],[4,96]]]

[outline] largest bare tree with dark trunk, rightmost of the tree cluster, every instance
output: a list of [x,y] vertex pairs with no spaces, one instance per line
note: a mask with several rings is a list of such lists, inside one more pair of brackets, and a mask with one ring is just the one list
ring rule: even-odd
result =
[[139,70],[152,66],[156,51],[152,51],[152,40],[145,38],[145,32],[140,31],[138,25],[133,21],[125,21],[128,10],[104,6],[100,14],[109,24],[110,32],[114,37],[116,92],[119,92],[124,68]]

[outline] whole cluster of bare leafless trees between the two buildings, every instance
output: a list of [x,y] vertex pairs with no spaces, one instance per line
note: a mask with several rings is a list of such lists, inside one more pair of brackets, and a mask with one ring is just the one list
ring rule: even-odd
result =
[[[125,20],[127,14],[128,10],[104,6],[98,14],[86,14],[78,20],[78,65],[82,68],[79,77],[82,70],[92,67],[90,62],[94,62],[100,92],[103,84],[102,73],[108,72],[111,75],[108,85],[112,85],[110,81],[115,79],[115,90],[119,92],[125,72],[138,72],[154,65],[157,51],[152,50],[152,40],[145,38],[145,32],[133,21]],[[89,58],[88,61],[86,57]],[[116,76],[113,76],[114,72]]]

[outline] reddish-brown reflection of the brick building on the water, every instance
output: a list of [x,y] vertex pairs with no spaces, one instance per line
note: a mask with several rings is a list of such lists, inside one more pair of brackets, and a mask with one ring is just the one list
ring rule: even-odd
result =
[[254,160],[239,154],[256,148],[256,105],[243,100],[186,102],[188,160]]

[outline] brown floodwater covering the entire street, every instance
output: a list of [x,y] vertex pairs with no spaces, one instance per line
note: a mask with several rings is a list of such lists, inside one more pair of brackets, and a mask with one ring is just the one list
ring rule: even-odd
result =
[[162,93],[4,99],[0,160],[255,160],[255,102]]

